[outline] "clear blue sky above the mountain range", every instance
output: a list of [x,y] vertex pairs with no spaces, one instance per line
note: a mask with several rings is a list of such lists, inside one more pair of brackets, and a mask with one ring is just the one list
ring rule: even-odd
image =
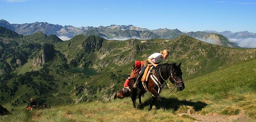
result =
[[10,24],[256,33],[256,0],[0,0],[0,19]]

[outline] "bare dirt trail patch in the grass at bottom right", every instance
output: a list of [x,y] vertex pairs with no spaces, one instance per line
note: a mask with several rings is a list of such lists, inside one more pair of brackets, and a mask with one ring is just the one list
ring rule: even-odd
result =
[[233,115],[233,116],[225,116],[225,115],[219,115],[219,114],[186,114],[186,113],[180,113],[178,114],[179,116],[182,115],[189,115],[191,117],[194,117],[197,119],[196,122],[231,122],[231,121],[238,121],[238,122],[246,122],[248,120],[248,116],[244,114],[244,112],[241,112],[238,115]]

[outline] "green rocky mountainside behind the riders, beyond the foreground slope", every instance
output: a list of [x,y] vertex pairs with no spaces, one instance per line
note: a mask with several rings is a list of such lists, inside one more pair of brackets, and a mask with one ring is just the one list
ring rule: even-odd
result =
[[[182,62],[185,81],[256,57],[256,48],[221,47],[186,35],[125,41],[77,35],[64,42],[53,36],[53,45],[44,44],[51,40],[45,38],[38,32],[23,37],[19,44],[1,45],[12,50],[1,53],[0,104],[18,109],[26,106],[30,98],[49,106],[107,101],[123,88],[134,60],[145,60],[165,49],[171,54],[163,63]],[[45,59],[48,61],[43,64]]]

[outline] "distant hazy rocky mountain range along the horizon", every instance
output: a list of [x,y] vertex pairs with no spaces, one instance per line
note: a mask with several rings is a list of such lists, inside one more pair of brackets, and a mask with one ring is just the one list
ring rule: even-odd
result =
[[[232,33],[230,31],[216,32],[206,30],[203,32],[181,32],[178,29],[155,29],[149,30],[146,28],[134,27],[133,25],[110,25],[107,27],[80,27],[76,28],[71,25],[54,25],[47,22],[35,22],[24,24],[10,24],[4,19],[0,20],[0,26],[13,30],[14,32],[22,35],[28,35],[40,31],[47,34],[55,34],[62,40],[68,40],[75,35],[83,34],[84,36],[95,35],[103,37],[109,40],[126,40],[126,39],[173,39],[183,34],[197,38],[201,41],[217,44],[220,46],[239,48],[239,46],[233,42],[230,42],[228,38],[256,38],[255,33],[248,31]],[[65,38],[65,39],[64,39]]]

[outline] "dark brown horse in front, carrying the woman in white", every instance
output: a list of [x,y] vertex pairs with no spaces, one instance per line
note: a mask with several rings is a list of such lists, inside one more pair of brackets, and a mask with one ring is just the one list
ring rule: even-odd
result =
[[185,85],[182,80],[180,65],[181,63],[178,65],[176,65],[176,63],[166,63],[153,67],[151,73],[156,77],[155,79],[157,79],[158,81],[155,82],[151,77],[149,77],[149,80],[145,82],[145,86],[147,89],[142,86],[142,82],[139,82],[138,89],[140,89],[140,92],[138,92],[138,94],[137,89],[132,89],[131,97],[133,102],[133,108],[136,108],[135,102],[137,95],[139,99],[139,104],[137,108],[141,108],[141,96],[148,90],[153,95],[153,98],[150,101],[149,111],[152,109],[155,99],[158,100],[158,102],[160,103],[160,107],[163,109],[163,101],[159,94],[165,85],[165,80],[169,79],[178,91],[182,91],[183,89],[185,89]]

